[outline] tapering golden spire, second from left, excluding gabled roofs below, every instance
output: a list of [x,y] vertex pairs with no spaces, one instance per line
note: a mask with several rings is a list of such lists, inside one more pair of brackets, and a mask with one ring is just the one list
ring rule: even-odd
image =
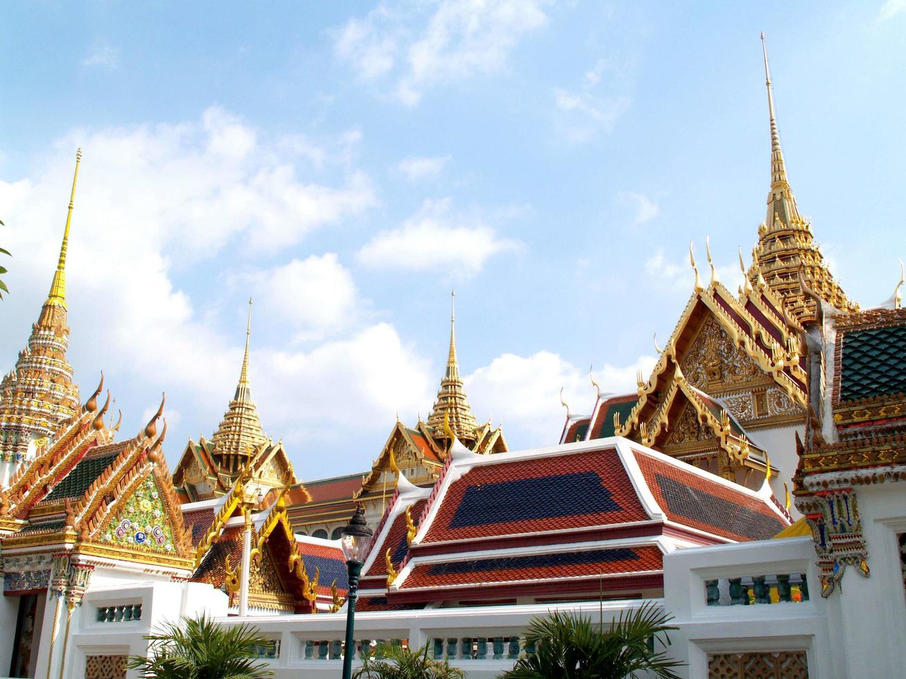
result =
[[252,387],[248,382],[248,347],[252,336],[252,300],[248,301],[248,320],[246,322],[246,351],[239,371],[239,383],[236,393],[230,401],[220,426],[211,436],[214,454],[222,471],[230,474],[239,473],[249,457],[257,453],[258,446],[267,442],[267,436],[258,419],[255,401],[252,400]]

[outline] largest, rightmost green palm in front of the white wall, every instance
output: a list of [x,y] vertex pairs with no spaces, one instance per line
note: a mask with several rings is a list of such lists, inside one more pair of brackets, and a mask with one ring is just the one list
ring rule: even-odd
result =
[[677,679],[664,651],[654,651],[654,642],[670,644],[667,635],[670,617],[651,602],[635,611],[626,611],[610,627],[593,625],[590,618],[554,611],[536,618],[525,634],[527,646],[535,652],[520,658],[506,679],[624,679],[635,673],[651,673],[660,679]]

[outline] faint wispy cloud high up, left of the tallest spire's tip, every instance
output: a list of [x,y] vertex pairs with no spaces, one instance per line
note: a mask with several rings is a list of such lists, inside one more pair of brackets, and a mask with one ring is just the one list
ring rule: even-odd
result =
[[582,143],[600,131],[613,129],[631,104],[630,97],[624,93],[625,79],[622,70],[600,59],[593,69],[584,73],[577,89],[554,88],[557,131],[573,143]]

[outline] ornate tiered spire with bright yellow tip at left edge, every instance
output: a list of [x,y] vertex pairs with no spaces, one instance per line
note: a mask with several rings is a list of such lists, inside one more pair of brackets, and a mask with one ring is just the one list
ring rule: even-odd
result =
[[[34,454],[36,445],[53,439],[60,425],[80,410],[79,387],[72,382],[72,366],[66,361],[66,250],[81,160],[80,148],[75,155],[63,244],[50,292],[32,325],[28,345],[0,381],[0,464],[21,464]],[[13,471],[4,469],[4,477]]]

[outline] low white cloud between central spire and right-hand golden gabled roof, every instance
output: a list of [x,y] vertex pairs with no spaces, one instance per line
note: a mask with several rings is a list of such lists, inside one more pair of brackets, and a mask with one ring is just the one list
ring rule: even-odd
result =
[[[635,391],[636,370],[648,375],[655,359],[643,356],[630,366],[605,364],[595,370],[602,392]],[[466,378],[467,393],[477,416],[503,418],[511,447],[555,443],[564,424],[560,388],[573,415],[590,415],[594,388],[587,370],[576,368],[559,355],[538,351],[528,356],[503,354]]]

